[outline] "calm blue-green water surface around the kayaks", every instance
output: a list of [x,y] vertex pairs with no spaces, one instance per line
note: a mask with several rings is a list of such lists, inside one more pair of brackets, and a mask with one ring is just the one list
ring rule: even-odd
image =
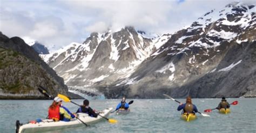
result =
[[[185,99],[178,99],[184,102]],[[192,99],[200,112],[214,108],[220,99]],[[135,99],[130,105],[131,113],[126,115],[111,114],[109,118],[118,120],[116,124],[107,121],[96,123],[88,128],[55,130],[51,132],[256,132],[256,99],[227,99],[230,103],[238,100],[239,104],[231,107],[231,114],[223,115],[217,111],[211,117],[198,114],[192,122],[180,120],[178,104],[166,99]],[[83,100],[73,100],[82,104]],[[120,100],[90,100],[95,109],[116,107]],[[127,100],[129,102],[130,99]],[[15,132],[15,122],[26,123],[29,120],[45,118],[51,100],[0,100],[0,132]],[[77,106],[64,103],[72,112]]]

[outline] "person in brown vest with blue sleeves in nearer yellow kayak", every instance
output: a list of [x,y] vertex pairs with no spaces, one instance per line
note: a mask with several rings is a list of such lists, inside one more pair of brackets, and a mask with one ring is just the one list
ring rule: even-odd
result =
[[180,103],[177,110],[179,111],[181,109],[183,109],[183,113],[187,113],[187,114],[189,113],[195,114],[198,112],[197,106],[192,104],[192,100],[190,96],[187,97],[186,104]]

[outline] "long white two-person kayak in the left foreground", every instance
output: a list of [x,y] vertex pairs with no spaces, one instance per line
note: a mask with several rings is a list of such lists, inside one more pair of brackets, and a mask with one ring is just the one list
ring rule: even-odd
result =
[[[110,114],[112,109],[113,108],[104,109],[100,112],[100,115],[107,117]],[[93,123],[99,122],[104,119],[101,116],[91,117],[86,113],[78,113],[78,118],[86,124],[93,124]],[[58,130],[58,129],[64,129],[64,128],[78,127],[81,125],[85,126],[80,120],[74,118],[74,119],[71,119],[69,122],[64,122],[64,121],[54,122],[51,119],[45,119],[45,120],[42,120],[42,122],[38,122],[35,124],[28,123],[28,124],[20,125],[18,127],[18,130],[16,130],[16,131],[18,133],[52,131],[52,130]]]

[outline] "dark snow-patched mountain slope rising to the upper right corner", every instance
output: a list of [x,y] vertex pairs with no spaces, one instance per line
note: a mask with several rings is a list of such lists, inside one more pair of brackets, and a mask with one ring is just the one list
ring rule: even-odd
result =
[[211,10],[104,92],[110,98],[252,97],[256,95],[256,8]]

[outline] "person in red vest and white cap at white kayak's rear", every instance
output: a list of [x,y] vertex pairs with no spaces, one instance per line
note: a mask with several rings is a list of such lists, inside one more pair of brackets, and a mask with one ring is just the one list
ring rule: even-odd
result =
[[48,114],[48,119],[54,121],[70,121],[70,119],[76,117],[76,114],[72,114],[68,108],[62,106],[62,99],[59,97],[54,98]]

